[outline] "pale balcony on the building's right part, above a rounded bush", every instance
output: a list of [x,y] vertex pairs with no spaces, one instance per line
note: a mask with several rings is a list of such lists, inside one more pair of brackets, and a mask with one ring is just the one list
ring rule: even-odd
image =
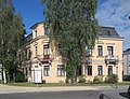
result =
[[113,63],[113,65],[117,65],[118,63],[118,56],[105,56],[105,63]]

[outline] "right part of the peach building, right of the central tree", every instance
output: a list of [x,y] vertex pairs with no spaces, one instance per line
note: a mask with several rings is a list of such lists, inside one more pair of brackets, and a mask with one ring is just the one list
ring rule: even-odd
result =
[[122,40],[113,27],[102,27],[99,40],[84,68],[87,81],[92,81],[95,75],[117,74],[122,82]]

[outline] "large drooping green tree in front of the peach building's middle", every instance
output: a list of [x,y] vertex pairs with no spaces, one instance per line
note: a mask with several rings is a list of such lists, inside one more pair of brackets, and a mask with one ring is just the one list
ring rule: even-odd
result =
[[[41,0],[51,26],[50,38],[66,59],[67,79],[77,79],[77,70],[86,62],[87,46],[94,47],[98,36],[95,19],[98,0]],[[81,65],[80,65],[81,63]]]

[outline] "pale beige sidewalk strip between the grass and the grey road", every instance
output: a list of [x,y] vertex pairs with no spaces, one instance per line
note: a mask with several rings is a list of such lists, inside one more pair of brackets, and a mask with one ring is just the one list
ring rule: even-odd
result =
[[0,94],[35,93],[35,91],[67,91],[67,90],[98,90],[92,86],[55,86],[55,87],[21,87],[0,84]]

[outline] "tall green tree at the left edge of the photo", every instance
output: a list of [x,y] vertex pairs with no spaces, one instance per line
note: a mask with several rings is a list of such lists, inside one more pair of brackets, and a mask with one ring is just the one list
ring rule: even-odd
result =
[[12,0],[0,0],[0,63],[9,81],[17,66],[17,49],[24,40],[25,29],[20,14],[15,14]]

